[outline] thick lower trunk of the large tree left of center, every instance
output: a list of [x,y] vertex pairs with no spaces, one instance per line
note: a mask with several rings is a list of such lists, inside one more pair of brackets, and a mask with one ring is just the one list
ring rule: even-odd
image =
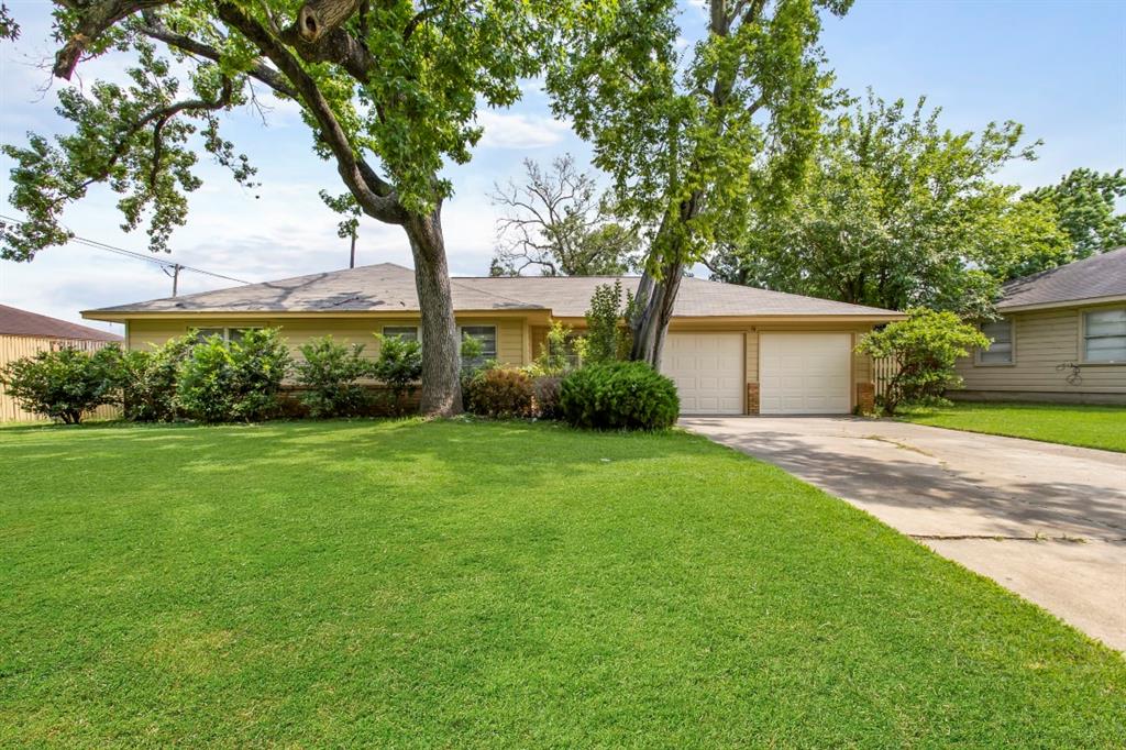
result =
[[414,285],[422,318],[420,408],[427,417],[454,417],[462,413],[462,382],[441,205],[429,214],[410,214],[404,227],[414,255]]

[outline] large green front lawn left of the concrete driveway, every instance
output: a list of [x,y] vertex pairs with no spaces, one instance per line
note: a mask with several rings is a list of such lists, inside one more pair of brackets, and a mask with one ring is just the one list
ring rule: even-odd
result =
[[0,430],[0,747],[1120,747],[1126,661],[685,434]]

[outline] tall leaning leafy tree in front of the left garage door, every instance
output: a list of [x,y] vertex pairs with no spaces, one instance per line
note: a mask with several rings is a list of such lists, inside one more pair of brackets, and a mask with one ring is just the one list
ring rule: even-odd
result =
[[[622,0],[578,25],[549,68],[555,110],[592,142],[617,211],[645,229],[634,359],[660,363],[686,268],[736,243],[752,195],[783,196],[801,173],[830,83],[819,10],[849,5],[709,0],[704,38],[681,51],[695,34],[676,0]],[[781,158],[754,169],[770,144]]]

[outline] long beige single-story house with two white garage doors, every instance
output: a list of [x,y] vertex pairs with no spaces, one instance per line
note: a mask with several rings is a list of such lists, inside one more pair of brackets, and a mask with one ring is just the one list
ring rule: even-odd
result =
[[[463,336],[489,358],[521,366],[546,341],[552,321],[581,329],[595,288],[637,277],[454,278]],[[414,273],[394,264],[313,274],[266,284],[90,310],[92,320],[125,323],[127,347],[159,345],[189,328],[230,339],[280,327],[291,347],[331,333],[365,342],[373,333],[418,336]],[[872,363],[857,339],[901,319],[887,310],[686,278],[680,286],[662,369],[685,413],[843,414],[870,405]]]

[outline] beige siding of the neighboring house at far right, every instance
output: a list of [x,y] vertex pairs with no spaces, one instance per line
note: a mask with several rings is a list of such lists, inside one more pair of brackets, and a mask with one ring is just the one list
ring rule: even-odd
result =
[[[963,398],[1004,399],[1026,396],[1045,400],[1084,400],[1107,396],[1126,401],[1126,365],[1085,364],[1082,359],[1082,313],[1121,307],[1123,303],[1084,307],[1056,307],[1016,312],[1013,321],[1013,363],[980,365],[975,356],[958,360],[964,380]],[[1070,369],[1056,369],[1062,363],[1079,363],[1082,382],[1067,383]],[[1096,399],[1103,400],[1103,399]]]

